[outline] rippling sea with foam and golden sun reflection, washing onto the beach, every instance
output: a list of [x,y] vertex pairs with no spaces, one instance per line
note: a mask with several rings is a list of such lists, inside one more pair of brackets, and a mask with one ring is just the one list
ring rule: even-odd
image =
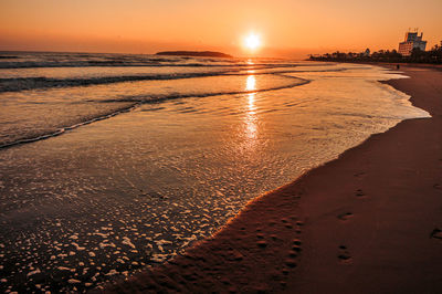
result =
[[399,72],[275,59],[0,52],[0,291],[85,292],[403,119]]

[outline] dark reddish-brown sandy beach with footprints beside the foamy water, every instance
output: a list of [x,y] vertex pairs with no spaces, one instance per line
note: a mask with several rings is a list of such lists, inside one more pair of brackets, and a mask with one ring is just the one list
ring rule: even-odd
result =
[[401,71],[387,83],[432,118],[371,136],[106,292],[440,293],[442,72]]

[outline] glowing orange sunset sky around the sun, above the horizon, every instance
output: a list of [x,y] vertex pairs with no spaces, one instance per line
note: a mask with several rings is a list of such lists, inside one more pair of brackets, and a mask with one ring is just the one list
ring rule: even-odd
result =
[[[442,40],[442,0],[0,0],[0,50],[235,56],[392,50],[409,28]],[[253,32],[262,48],[250,52]]]

